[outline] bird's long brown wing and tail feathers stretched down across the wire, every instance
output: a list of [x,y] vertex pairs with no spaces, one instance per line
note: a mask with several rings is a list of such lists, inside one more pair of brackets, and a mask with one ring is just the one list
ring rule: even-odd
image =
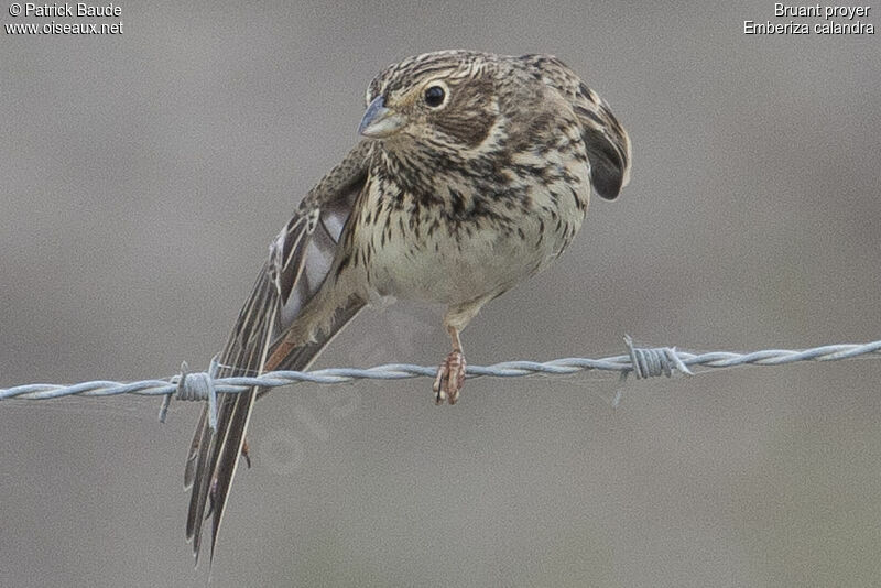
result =
[[[354,302],[341,308],[317,341],[291,348],[268,363],[303,306],[320,287],[339,250],[340,235],[365,185],[370,145],[360,143],[313,188],[271,247],[270,260],[242,306],[219,356],[218,377],[257,375],[264,371],[304,370],[325,345],[361,308]],[[207,404],[202,412],[184,469],[184,488],[191,488],[186,536],[198,562],[203,523],[211,516],[211,557],[236,475],[253,402],[251,389],[218,399],[217,428],[211,428]],[[206,513],[206,509],[208,512]]]

